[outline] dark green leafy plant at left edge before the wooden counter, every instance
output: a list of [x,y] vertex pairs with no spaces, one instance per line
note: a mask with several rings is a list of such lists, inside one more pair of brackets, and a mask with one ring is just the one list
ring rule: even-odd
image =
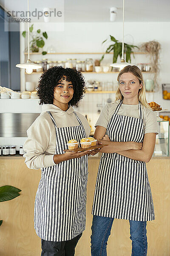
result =
[[[20,195],[21,189],[17,189],[14,186],[1,186],[0,187],[0,202],[5,202],[12,200]],[[2,225],[3,220],[0,220],[0,226]]]

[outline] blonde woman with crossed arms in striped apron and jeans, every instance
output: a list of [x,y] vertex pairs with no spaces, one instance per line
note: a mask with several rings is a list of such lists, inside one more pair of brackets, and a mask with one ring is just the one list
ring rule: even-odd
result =
[[132,256],[146,256],[146,224],[155,218],[146,162],[152,157],[158,134],[156,115],[146,101],[137,66],[122,69],[117,81],[116,100],[102,109],[94,134],[109,145],[100,150],[91,255],[107,255],[108,237],[117,218],[129,220]]

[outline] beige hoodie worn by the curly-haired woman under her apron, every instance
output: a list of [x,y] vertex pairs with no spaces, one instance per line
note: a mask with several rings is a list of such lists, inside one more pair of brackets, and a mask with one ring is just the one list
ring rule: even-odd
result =
[[[47,111],[53,115],[58,128],[79,125],[72,107],[67,111],[62,111],[53,104],[42,105],[42,113],[28,128],[28,139],[23,145],[24,151],[26,151],[23,157],[26,158],[25,163],[30,169],[55,165],[53,160],[56,146],[55,127]],[[87,137],[89,137],[91,128],[87,119],[82,114],[76,113],[82,121]]]

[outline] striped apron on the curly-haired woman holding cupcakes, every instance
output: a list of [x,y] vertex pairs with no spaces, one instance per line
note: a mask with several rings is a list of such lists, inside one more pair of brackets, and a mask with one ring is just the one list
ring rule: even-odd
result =
[[[55,154],[64,154],[68,140],[86,137],[81,120],[79,125],[57,128]],[[67,241],[85,230],[88,155],[41,168],[41,179],[34,205],[34,228],[46,241]]]

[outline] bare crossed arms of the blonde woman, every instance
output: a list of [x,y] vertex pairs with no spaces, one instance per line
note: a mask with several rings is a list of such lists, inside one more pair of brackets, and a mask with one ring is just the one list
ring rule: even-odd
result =
[[105,135],[105,133],[105,127],[96,127],[94,138],[102,144],[105,144],[106,142],[109,144],[108,146],[103,147],[100,152],[118,153],[133,160],[144,161],[146,163],[150,161],[155,147],[156,133],[144,134],[143,143],[133,141],[113,142],[109,139],[108,135]]

